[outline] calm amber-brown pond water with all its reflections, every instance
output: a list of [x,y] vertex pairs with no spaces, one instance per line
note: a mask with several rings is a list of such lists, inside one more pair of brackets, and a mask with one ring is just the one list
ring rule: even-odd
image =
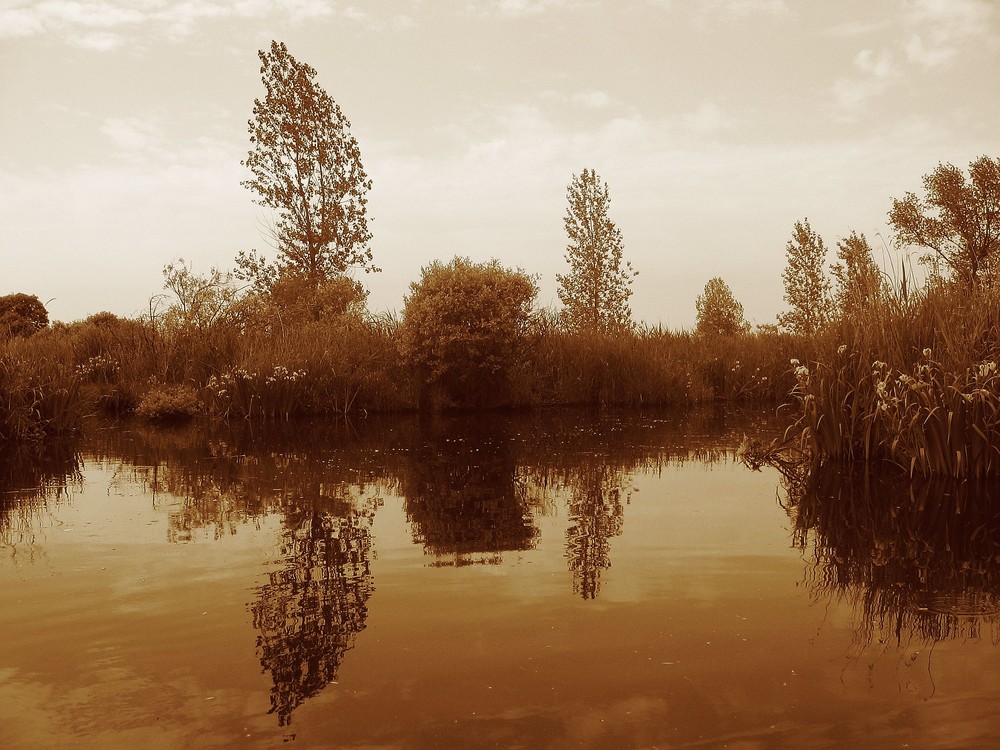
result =
[[994,747],[988,493],[766,413],[95,427],[0,469],[0,747]]

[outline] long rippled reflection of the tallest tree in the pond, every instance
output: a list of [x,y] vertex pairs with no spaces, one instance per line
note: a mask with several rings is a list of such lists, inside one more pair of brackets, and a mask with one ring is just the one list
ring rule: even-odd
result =
[[337,679],[365,628],[373,591],[371,525],[377,502],[286,509],[281,568],[251,605],[260,663],[271,673],[271,712],[281,725]]

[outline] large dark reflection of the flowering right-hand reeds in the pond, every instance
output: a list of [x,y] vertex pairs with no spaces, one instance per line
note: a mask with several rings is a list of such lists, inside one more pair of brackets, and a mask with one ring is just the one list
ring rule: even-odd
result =
[[793,538],[817,595],[854,602],[859,636],[939,641],[1000,629],[995,485],[844,476],[790,483]]

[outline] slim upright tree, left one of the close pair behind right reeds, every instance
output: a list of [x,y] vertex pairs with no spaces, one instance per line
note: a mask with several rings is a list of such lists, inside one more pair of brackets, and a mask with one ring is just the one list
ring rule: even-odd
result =
[[781,277],[785,301],[791,309],[778,315],[778,323],[790,333],[811,336],[830,322],[833,300],[830,280],[823,268],[826,246],[809,226],[808,219],[795,222],[785,254],[787,263]]

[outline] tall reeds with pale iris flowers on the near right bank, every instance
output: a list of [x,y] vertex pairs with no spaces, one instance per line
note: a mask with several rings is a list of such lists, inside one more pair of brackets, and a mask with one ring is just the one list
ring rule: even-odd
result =
[[814,465],[891,463],[910,476],[1000,475],[1000,293],[937,285],[842,321],[791,361],[785,445]]

